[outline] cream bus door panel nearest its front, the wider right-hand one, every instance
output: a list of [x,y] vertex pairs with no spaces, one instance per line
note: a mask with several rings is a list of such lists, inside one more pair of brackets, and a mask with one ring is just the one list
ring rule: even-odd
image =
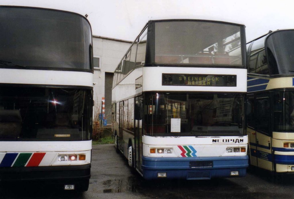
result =
[[257,165],[260,168],[273,170],[270,133],[270,98],[269,93],[256,95],[255,129],[257,147]]

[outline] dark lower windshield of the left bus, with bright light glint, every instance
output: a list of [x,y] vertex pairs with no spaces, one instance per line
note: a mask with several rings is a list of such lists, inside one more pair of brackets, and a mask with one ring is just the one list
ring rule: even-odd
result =
[[89,140],[92,91],[0,86],[0,140]]

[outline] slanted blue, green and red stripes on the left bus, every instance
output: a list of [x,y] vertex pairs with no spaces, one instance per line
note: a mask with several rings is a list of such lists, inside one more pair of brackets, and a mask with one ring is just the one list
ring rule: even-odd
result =
[[37,167],[46,153],[6,153],[0,167]]

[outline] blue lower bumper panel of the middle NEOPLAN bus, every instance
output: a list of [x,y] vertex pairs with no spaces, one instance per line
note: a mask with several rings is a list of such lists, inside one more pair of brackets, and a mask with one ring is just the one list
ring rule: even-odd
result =
[[[191,162],[212,162],[212,167],[191,168]],[[143,177],[146,180],[158,179],[158,173],[166,173],[165,178],[202,180],[213,177],[243,177],[248,167],[248,156],[230,157],[142,157]],[[231,171],[239,175],[231,176]]]

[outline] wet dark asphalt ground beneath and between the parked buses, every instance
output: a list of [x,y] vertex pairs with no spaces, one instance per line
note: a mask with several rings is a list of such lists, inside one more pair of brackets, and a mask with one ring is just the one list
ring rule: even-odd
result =
[[54,186],[1,184],[0,198],[294,198],[294,177],[250,170],[242,178],[144,180],[128,167],[113,144],[94,145],[89,190],[57,191]]

